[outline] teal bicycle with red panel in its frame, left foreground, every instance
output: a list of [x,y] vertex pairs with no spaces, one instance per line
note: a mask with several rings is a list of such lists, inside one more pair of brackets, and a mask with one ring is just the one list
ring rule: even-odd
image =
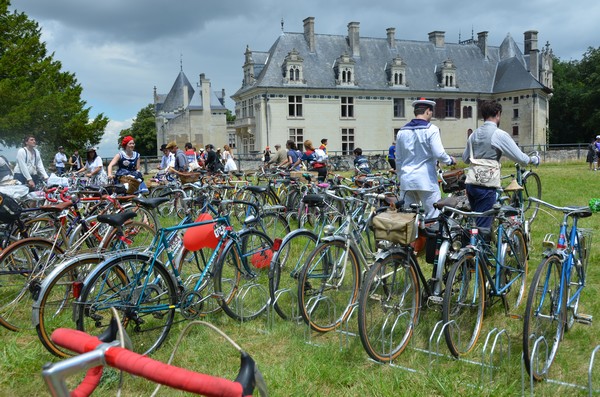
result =
[[[210,241],[212,251],[208,259],[198,259],[200,273],[194,275],[192,288],[186,288],[167,236],[195,226],[204,227],[196,229],[202,233],[197,241]],[[238,321],[252,320],[268,305],[272,245],[266,234],[254,228],[234,231],[227,216],[161,228],[149,251],[109,258],[88,275],[75,305],[77,328],[104,330],[109,309],[115,307],[132,331],[136,351],[149,354],[166,339],[175,310],[185,319],[194,319],[208,299],[217,299],[223,311]],[[167,253],[166,266],[159,260],[162,252]],[[204,255],[204,251],[199,253]],[[211,279],[214,291],[203,296]]]

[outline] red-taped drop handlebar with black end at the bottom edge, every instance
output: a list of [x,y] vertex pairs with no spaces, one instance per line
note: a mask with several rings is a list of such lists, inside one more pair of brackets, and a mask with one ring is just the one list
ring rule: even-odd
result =
[[[88,335],[82,331],[59,328],[52,333],[52,339],[58,345],[79,354],[96,353],[95,356],[101,355],[102,357],[99,357],[100,361],[92,364],[94,366],[106,363],[111,367],[178,390],[206,396],[238,397],[251,396],[254,390],[255,363],[244,352],[242,352],[242,362],[238,377],[235,381],[231,381],[165,364],[118,346],[103,344],[97,337]],[[97,349],[98,347],[99,349]],[[79,359],[78,364],[73,364],[73,366],[78,365],[78,368],[81,369],[82,357],[75,356],[71,359],[47,366],[44,368],[43,375],[46,378],[48,374],[56,373],[56,371],[52,371],[52,367],[66,363],[69,360]],[[65,370],[67,369],[72,371],[72,366],[71,368],[65,368]],[[89,370],[83,382],[76,389],[78,393],[81,393],[79,395],[88,395],[83,394],[84,392],[91,393],[99,382],[101,375],[102,371],[98,370],[97,367]]]

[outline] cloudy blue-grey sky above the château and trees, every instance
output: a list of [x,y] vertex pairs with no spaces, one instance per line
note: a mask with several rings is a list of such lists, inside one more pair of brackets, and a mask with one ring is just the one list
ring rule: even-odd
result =
[[[315,18],[316,34],[346,35],[360,23],[361,37],[427,41],[444,31],[457,43],[487,31],[499,46],[510,34],[523,50],[523,33],[537,30],[540,49],[550,43],[563,61],[579,60],[600,46],[600,2],[549,0],[11,0],[10,10],[37,21],[49,53],[75,73],[90,117],[110,119],[98,154],[112,157],[119,131],[166,94],[181,68],[192,84],[204,73],[213,91],[225,90],[226,106],[240,87],[244,52],[268,51],[283,32],[303,32]],[[283,21],[283,29],[282,29]]]

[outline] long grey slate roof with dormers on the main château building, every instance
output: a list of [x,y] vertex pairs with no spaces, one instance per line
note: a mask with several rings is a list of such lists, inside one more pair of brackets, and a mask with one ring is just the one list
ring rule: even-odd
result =
[[[296,49],[304,59],[303,75],[306,84],[285,84],[282,65],[290,51]],[[519,88],[541,88],[542,85],[527,72],[525,59],[517,44],[508,35],[500,47],[488,44],[484,57],[476,43],[445,43],[436,48],[430,41],[395,40],[390,48],[387,38],[360,37],[360,56],[355,61],[355,86],[337,86],[333,67],[342,54],[352,56],[347,37],[315,34],[315,52],[310,53],[303,33],[283,33],[268,52],[252,52],[256,82],[241,87],[239,95],[256,87],[305,87],[312,89],[352,89],[420,92],[499,93]],[[407,87],[390,87],[386,66],[394,57],[406,64]],[[438,86],[436,71],[446,60],[456,66],[456,88]]]

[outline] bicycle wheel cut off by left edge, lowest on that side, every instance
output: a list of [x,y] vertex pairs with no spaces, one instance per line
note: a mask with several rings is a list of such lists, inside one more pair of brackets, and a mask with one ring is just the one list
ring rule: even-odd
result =
[[31,305],[40,285],[62,254],[50,240],[30,237],[0,254],[0,317],[11,331],[31,329]]

